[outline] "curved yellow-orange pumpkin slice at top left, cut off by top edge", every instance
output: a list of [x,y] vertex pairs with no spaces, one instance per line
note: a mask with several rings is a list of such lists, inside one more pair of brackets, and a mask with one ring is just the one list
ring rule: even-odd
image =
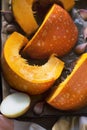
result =
[[33,0],[12,0],[12,10],[15,20],[28,35],[38,28],[32,11],[32,5]]

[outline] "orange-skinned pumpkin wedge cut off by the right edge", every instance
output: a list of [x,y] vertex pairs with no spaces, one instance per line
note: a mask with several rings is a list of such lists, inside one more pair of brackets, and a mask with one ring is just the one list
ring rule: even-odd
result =
[[47,103],[61,110],[80,109],[87,105],[87,53],[80,57],[71,74],[52,92]]

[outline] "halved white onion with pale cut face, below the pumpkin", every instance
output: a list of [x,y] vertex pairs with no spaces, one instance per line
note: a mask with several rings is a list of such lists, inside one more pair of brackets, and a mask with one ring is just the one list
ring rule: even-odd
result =
[[13,93],[1,102],[1,113],[8,118],[17,118],[28,111],[31,99],[25,93]]

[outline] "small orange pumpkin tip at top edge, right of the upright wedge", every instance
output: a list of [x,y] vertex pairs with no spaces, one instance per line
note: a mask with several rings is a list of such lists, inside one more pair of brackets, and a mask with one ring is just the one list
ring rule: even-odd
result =
[[59,0],[61,1],[61,3],[63,4],[64,8],[66,10],[70,10],[72,9],[72,7],[75,5],[75,1],[74,0]]

